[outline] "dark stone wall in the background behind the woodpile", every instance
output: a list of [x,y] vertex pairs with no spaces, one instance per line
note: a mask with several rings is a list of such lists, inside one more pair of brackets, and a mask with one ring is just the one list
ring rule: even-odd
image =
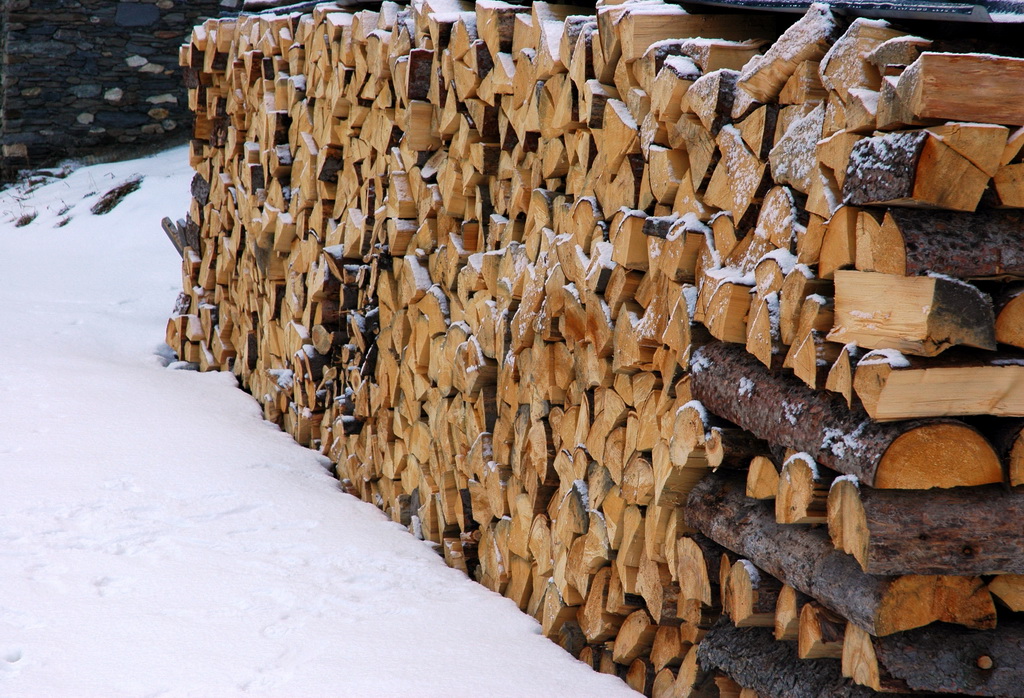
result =
[[186,138],[178,46],[221,4],[2,1],[0,181],[62,158]]

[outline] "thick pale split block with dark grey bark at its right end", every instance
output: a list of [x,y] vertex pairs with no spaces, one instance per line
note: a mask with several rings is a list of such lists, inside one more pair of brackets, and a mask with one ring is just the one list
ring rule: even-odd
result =
[[918,356],[959,344],[995,349],[995,317],[990,300],[966,281],[837,271],[836,326],[828,339]]

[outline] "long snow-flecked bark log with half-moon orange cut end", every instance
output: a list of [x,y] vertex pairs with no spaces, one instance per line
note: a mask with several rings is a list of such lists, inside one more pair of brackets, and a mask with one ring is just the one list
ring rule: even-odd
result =
[[[997,463],[991,446],[961,422],[877,424],[862,410],[849,409],[839,395],[769,372],[734,344],[698,348],[691,366],[690,390],[709,410],[772,444],[806,451],[867,485],[928,489],[993,481],[991,473],[979,477],[976,472],[980,463]],[[910,446],[916,436],[926,435],[930,437],[921,440],[927,443],[891,450],[901,438],[903,446]],[[971,451],[966,450],[968,444]],[[915,476],[909,475],[911,470]]]

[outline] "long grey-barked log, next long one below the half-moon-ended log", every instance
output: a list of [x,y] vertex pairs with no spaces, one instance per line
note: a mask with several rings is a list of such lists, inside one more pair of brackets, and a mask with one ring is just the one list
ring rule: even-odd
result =
[[707,476],[690,493],[686,523],[867,632],[890,635],[937,620],[994,625],[995,607],[980,579],[866,574],[824,531],[776,523],[765,503],[743,490],[742,478]]

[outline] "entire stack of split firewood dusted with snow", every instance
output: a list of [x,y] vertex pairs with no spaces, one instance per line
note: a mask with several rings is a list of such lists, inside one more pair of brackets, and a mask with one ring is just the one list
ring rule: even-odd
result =
[[1017,691],[1024,60],[500,0],[180,57],[168,343],[353,493],[647,695]]

